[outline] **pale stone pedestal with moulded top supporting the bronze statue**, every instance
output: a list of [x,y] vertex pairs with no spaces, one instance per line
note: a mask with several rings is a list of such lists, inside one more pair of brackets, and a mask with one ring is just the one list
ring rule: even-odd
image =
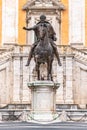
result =
[[28,83],[32,93],[31,117],[38,121],[49,121],[55,118],[56,89],[59,83],[52,81],[33,81]]

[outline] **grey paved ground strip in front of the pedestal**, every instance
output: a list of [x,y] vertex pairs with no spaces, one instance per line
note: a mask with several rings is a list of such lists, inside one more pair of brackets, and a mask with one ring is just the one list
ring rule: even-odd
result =
[[0,130],[87,130],[87,123],[36,124],[27,122],[0,123]]

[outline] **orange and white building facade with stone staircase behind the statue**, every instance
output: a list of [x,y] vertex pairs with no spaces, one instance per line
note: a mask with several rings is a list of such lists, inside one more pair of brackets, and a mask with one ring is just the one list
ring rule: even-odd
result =
[[27,82],[36,80],[35,63],[25,67],[34,32],[32,27],[45,14],[56,32],[62,62],[53,62],[54,81],[60,83],[56,104],[87,104],[87,1],[1,0],[0,1],[0,107],[31,104]]

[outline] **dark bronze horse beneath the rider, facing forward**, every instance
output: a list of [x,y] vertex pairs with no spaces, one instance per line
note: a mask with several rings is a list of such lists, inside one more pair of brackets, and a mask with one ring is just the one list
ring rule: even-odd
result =
[[48,36],[48,28],[45,24],[38,26],[38,45],[34,49],[34,60],[36,62],[36,71],[38,80],[41,79],[40,65],[47,63],[47,80],[53,80],[52,78],[52,62],[54,59],[54,50],[50,44]]

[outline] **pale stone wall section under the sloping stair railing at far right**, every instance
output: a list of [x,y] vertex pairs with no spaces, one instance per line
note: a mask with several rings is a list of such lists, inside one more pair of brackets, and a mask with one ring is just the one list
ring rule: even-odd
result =
[[74,103],[86,108],[87,104],[87,65],[76,61],[73,74]]

